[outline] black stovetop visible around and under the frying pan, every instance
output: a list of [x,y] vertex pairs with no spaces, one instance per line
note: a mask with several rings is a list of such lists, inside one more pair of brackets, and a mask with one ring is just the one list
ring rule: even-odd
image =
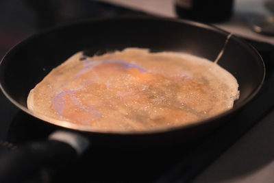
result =
[[[101,16],[144,14],[97,1],[1,1],[0,57],[22,38],[40,29]],[[91,148],[71,167],[45,168],[27,182],[189,182],[233,145],[274,106],[274,47],[247,40],[261,53],[266,80],[258,95],[229,123],[191,147],[151,149]],[[0,93],[0,139],[16,144],[47,138],[41,127]],[[1,141],[0,141],[1,143]],[[1,149],[0,149],[1,150]]]

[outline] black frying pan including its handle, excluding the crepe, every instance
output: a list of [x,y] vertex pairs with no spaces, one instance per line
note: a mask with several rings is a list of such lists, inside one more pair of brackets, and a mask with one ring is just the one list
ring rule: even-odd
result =
[[[125,47],[186,52],[213,61],[223,52],[218,64],[236,77],[240,97],[232,110],[211,119],[134,133],[92,132],[81,125],[43,121],[27,110],[29,90],[77,51],[84,50],[86,55],[93,56]],[[41,164],[74,160],[91,142],[113,147],[190,143],[212,132],[245,106],[258,93],[264,74],[264,62],[256,49],[236,36],[229,37],[229,33],[221,29],[193,21],[120,17],[83,21],[36,34],[5,55],[0,65],[0,86],[5,96],[36,118],[37,123],[47,123],[59,131],[51,134],[49,141],[29,143],[2,156],[0,182],[23,180]],[[14,176],[14,172],[18,176]]]

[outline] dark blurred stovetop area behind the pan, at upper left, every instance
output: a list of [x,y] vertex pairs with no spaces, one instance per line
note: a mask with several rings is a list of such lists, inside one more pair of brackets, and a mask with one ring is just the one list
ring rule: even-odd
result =
[[92,0],[1,0],[0,58],[17,42],[49,27],[116,15],[144,14]]

